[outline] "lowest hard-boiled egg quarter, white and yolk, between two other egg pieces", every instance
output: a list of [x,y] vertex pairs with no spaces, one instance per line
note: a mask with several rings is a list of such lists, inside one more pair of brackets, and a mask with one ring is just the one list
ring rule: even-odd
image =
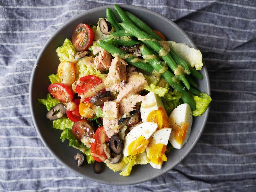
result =
[[156,169],[161,169],[163,161],[167,161],[165,151],[171,131],[170,128],[159,129],[149,139],[146,152],[150,165]]

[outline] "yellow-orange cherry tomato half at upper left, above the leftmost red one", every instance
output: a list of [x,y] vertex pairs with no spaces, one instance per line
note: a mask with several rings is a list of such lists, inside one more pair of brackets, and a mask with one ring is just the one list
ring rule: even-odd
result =
[[60,78],[61,83],[71,87],[76,77],[75,64],[68,61],[60,62],[58,66],[58,77]]

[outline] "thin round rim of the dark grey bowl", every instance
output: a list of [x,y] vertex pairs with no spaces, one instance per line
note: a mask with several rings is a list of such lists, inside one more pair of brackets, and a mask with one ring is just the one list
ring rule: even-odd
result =
[[[204,127],[206,125],[206,122],[207,122],[207,118],[208,118],[208,115],[209,115],[209,108],[210,106],[208,106],[207,110],[205,111],[205,118],[203,120],[203,123],[202,123],[202,126],[201,126],[201,129],[199,131],[199,134],[197,135],[197,137],[195,138],[193,144],[189,147],[189,149],[185,152],[185,154],[179,159],[179,161],[177,161],[175,164],[173,164],[172,166],[170,166],[167,170],[165,171],[162,171],[161,173],[157,173],[155,175],[152,175],[150,177],[145,177],[145,178],[141,178],[141,179],[138,179],[136,181],[128,181],[128,182],[116,182],[116,183],[108,183],[107,181],[104,181],[104,180],[101,180],[101,179],[94,179],[94,178],[91,178],[90,176],[87,176],[87,175],[83,175],[81,173],[79,173],[78,171],[72,169],[72,167],[70,167],[68,164],[66,164],[64,161],[62,161],[58,156],[57,154],[55,154],[51,148],[48,147],[48,145],[46,144],[46,141],[43,139],[42,135],[41,135],[41,132],[39,130],[39,125],[37,124],[36,122],[36,119],[35,119],[35,115],[34,115],[34,112],[33,112],[33,107],[32,107],[32,85],[34,83],[34,77],[35,77],[35,71],[36,71],[36,67],[39,63],[39,60],[44,52],[44,50],[46,49],[46,47],[49,45],[49,43],[52,41],[53,38],[55,38],[55,36],[62,30],[66,27],[67,24],[69,23],[72,23],[74,22],[76,19],[79,19],[81,18],[85,12],[87,12],[87,14],[90,14],[90,13],[93,13],[94,11],[97,11],[98,9],[102,9],[102,8],[107,8],[107,7],[112,7],[113,5],[103,5],[103,6],[99,6],[99,7],[95,7],[95,8],[92,8],[92,9],[88,9],[88,10],[85,10],[84,12],[70,18],[68,21],[66,21],[63,26],[61,26],[60,28],[58,28],[51,36],[50,38],[46,41],[46,43],[44,44],[44,46],[42,47],[41,51],[39,52],[37,58],[36,58],[36,61],[34,63],[34,66],[33,66],[33,69],[32,69],[32,73],[31,73],[31,77],[30,77],[30,82],[29,82],[29,108],[30,108],[30,113],[31,113],[31,116],[32,116],[32,121],[33,121],[33,124],[34,124],[34,127],[36,129],[36,132],[37,134],[39,135],[42,143],[44,144],[44,146],[47,148],[47,150],[62,164],[64,165],[66,168],[68,168],[69,170],[71,170],[72,172],[74,172],[75,174],[83,177],[83,178],[86,178],[90,181],[95,181],[95,182],[98,182],[98,183],[103,183],[103,184],[107,184],[107,185],[133,185],[133,184],[138,184],[138,183],[143,183],[143,182],[146,182],[146,181],[149,181],[149,180],[152,180],[152,179],[155,179],[165,173],[167,173],[168,171],[170,171],[171,169],[173,169],[175,166],[177,166],[190,152],[191,150],[194,148],[194,146],[196,145],[197,141],[199,140],[203,130],[204,130]],[[193,41],[190,39],[190,37],[176,24],[174,23],[172,20],[170,20],[169,18],[165,17],[164,15],[156,12],[156,11],[153,11],[153,10],[150,10],[150,9],[147,9],[145,7],[140,7],[140,6],[135,6],[135,5],[128,5],[128,4],[120,4],[120,7],[121,8],[130,8],[130,9],[135,9],[135,10],[140,10],[142,12],[146,12],[148,14],[154,14],[156,15],[157,17],[159,17],[161,20],[164,20],[166,21],[167,23],[171,23],[171,25],[176,29],[178,30],[190,43],[191,45],[193,46],[193,48],[197,48],[195,46],[195,44],[193,43]],[[206,65],[204,65],[203,67],[203,70],[205,72],[205,80],[206,80],[206,92],[208,95],[210,95],[210,83],[209,83],[209,76],[208,76],[208,71],[207,71],[207,67]],[[120,176],[121,177],[121,176]]]

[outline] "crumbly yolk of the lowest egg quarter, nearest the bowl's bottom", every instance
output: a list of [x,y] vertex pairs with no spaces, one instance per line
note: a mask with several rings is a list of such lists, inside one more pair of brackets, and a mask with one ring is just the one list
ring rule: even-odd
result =
[[158,143],[149,148],[148,156],[149,160],[154,164],[162,164],[163,161],[167,161],[165,155],[166,145]]

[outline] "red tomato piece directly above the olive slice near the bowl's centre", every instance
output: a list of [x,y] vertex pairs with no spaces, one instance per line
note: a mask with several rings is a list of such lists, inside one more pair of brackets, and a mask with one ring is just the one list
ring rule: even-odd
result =
[[102,80],[99,77],[96,77],[94,75],[87,75],[78,79],[75,89],[76,92],[81,95],[88,92],[89,90],[94,89],[96,85],[99,85],[101,83]]

